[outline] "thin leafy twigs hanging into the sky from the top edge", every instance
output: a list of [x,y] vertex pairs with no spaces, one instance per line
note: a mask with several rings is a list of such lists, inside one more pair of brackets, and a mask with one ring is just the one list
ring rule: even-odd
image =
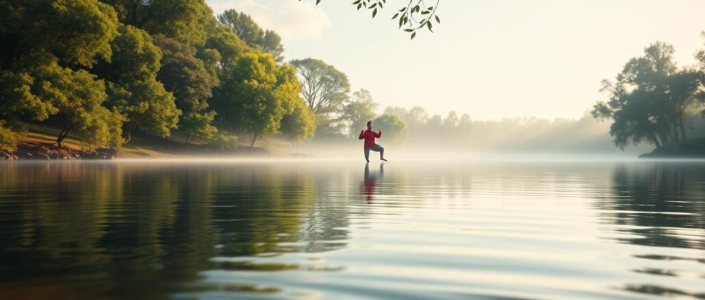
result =
[[[301,0],[299,0],[301,1]],[[404,32],[409,32],[411,39],[416,37],[416,31],[419,29],[426,28],[430,32],[434,32],[434,21],[436,23],[441,23],[441,18],[436,14],[436,9],[438,9],[441,0],[409,0],[406,6],[398,9],[392,20],[397,20],[399,30],[404,30]],[[316,0],[316,5],[318,5],[321,0]],[[377,12],[384,9],[386,6],[386,0],[355,0],[353,1],[353,6],[359,11],[362,8],[366,8],[368,11],[372,11],[372,18],[377,16]]]

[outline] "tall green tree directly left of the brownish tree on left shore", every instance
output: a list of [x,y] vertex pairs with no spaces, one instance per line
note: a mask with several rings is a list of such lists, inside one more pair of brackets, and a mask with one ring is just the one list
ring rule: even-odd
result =
[[112,42],[112,60],[94,69],[109,81],[109,106],[125,116],[127,142],[135,128],[167,137],[181,112],[171,92],[157,80],[161,50],[145,30],[130,25],[119,30]]

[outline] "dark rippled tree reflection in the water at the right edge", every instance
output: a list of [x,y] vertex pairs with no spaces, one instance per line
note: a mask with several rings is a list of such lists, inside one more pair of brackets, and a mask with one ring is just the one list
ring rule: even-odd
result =
[[[601,218],[603,222],[620,225],[616,227],[620,234],[615,239],[621,243],[703,249],[705,248],[703,182],[705,182],[705,172],[701,164],[664,162],[643,164],[638,167],[615,167],[612,175],[612,191],[599,203],[603,209]],[[658,250],[659,248],[654,248],[654,251]],[[651,264],[649,260],[705,263],[705,260],[699,258],[653,253],[634,257],[645,259],[644,263],[649,265]],[[659,277],[682,276],[679,270],[655,268],[649,265],[632,271]],[[699,275],[694,274],[694,276],[704,275],[705,273],[702,272]],[[625,284],[621,288],[630,292],[659,296],[705,297],[705,294],[692,294],[651,283]]]

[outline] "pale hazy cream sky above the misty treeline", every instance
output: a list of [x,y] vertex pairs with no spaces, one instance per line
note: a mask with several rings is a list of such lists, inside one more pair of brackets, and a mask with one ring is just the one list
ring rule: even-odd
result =
[[681,65],[704,47],[704,0],[440,0],[436,33],[413,41],[390,20],[406,0],[374,20],[352,0],[207,2],[249,13],[282,35],[287,60],[323,59],[382,108],[473,119],[579,118],[604,98],[600,80],[651,42],[674,44]]

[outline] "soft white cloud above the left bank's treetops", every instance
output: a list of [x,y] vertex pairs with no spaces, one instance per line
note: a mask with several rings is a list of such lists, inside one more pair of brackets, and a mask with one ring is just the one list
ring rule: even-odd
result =
[[276,31],[285,39],[321,37],[330,20],[311,1],[298,0],[207,0],[214,13],[234,8],[252,16],[262,28]]

